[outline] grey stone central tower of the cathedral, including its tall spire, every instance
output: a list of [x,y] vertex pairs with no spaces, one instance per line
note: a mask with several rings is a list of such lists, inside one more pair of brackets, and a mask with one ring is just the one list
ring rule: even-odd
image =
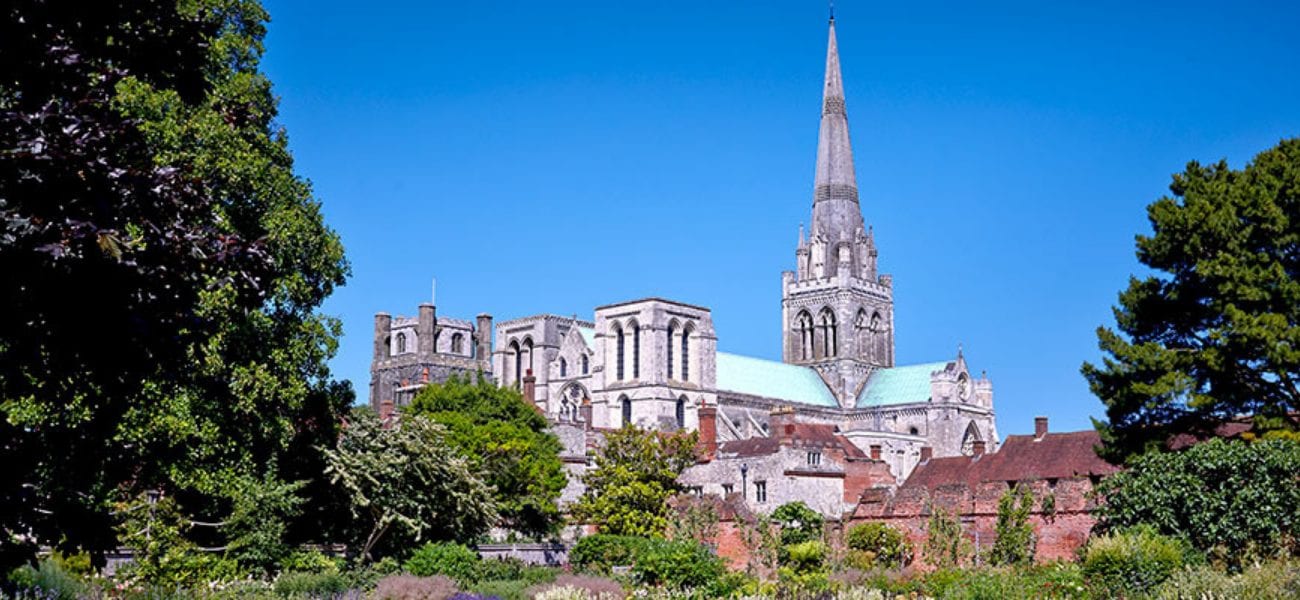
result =
[[863,226],[831,19],[818,135],[812,222],[800,226],[796,270],[781,281],[785,362],[816,369],[840,405],[852,408],[867,377],[894,364],[893,288],[876,271],[876,245]]

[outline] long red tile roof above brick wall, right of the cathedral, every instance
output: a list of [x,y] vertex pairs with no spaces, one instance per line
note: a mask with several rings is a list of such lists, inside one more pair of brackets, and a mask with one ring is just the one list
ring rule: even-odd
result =
[[1109,475],[1119,468],[1101,460],[1093,448],[1101,444],[1096,431],[1010,435],[997,452],[980,457],[931,458],[916,465],[904,487],[936,488],[954,483],[1020,482]]

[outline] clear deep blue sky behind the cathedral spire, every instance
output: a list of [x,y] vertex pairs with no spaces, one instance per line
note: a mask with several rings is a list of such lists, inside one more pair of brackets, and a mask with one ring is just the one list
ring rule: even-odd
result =
[[[373,314],[498,319],[664,296],[780,358],[810,216],[819,1],[266,0],[265,70],[352,278],[325,305],[359,400]],[[1297,3],[863,3],[836,29],[900,364],[962,343],[998,429],[1089,427],[1079,375],[1144,206],[1190,160],[1300,135]]]

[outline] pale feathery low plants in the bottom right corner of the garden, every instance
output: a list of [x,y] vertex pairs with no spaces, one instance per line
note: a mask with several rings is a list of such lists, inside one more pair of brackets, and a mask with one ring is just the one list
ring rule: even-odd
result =
[[1271,561],[1252,565],[1236,574],[1205,565],[1188,568],[1165,581],[1156,596],[1161,600],[1300,599],[1300,564],[1294,560]]

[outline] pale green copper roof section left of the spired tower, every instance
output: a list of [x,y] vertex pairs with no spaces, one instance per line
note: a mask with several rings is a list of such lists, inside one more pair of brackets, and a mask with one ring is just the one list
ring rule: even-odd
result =
[[718,353],[718,391],[818,406],[840,405],[811,368],[728,352]]

